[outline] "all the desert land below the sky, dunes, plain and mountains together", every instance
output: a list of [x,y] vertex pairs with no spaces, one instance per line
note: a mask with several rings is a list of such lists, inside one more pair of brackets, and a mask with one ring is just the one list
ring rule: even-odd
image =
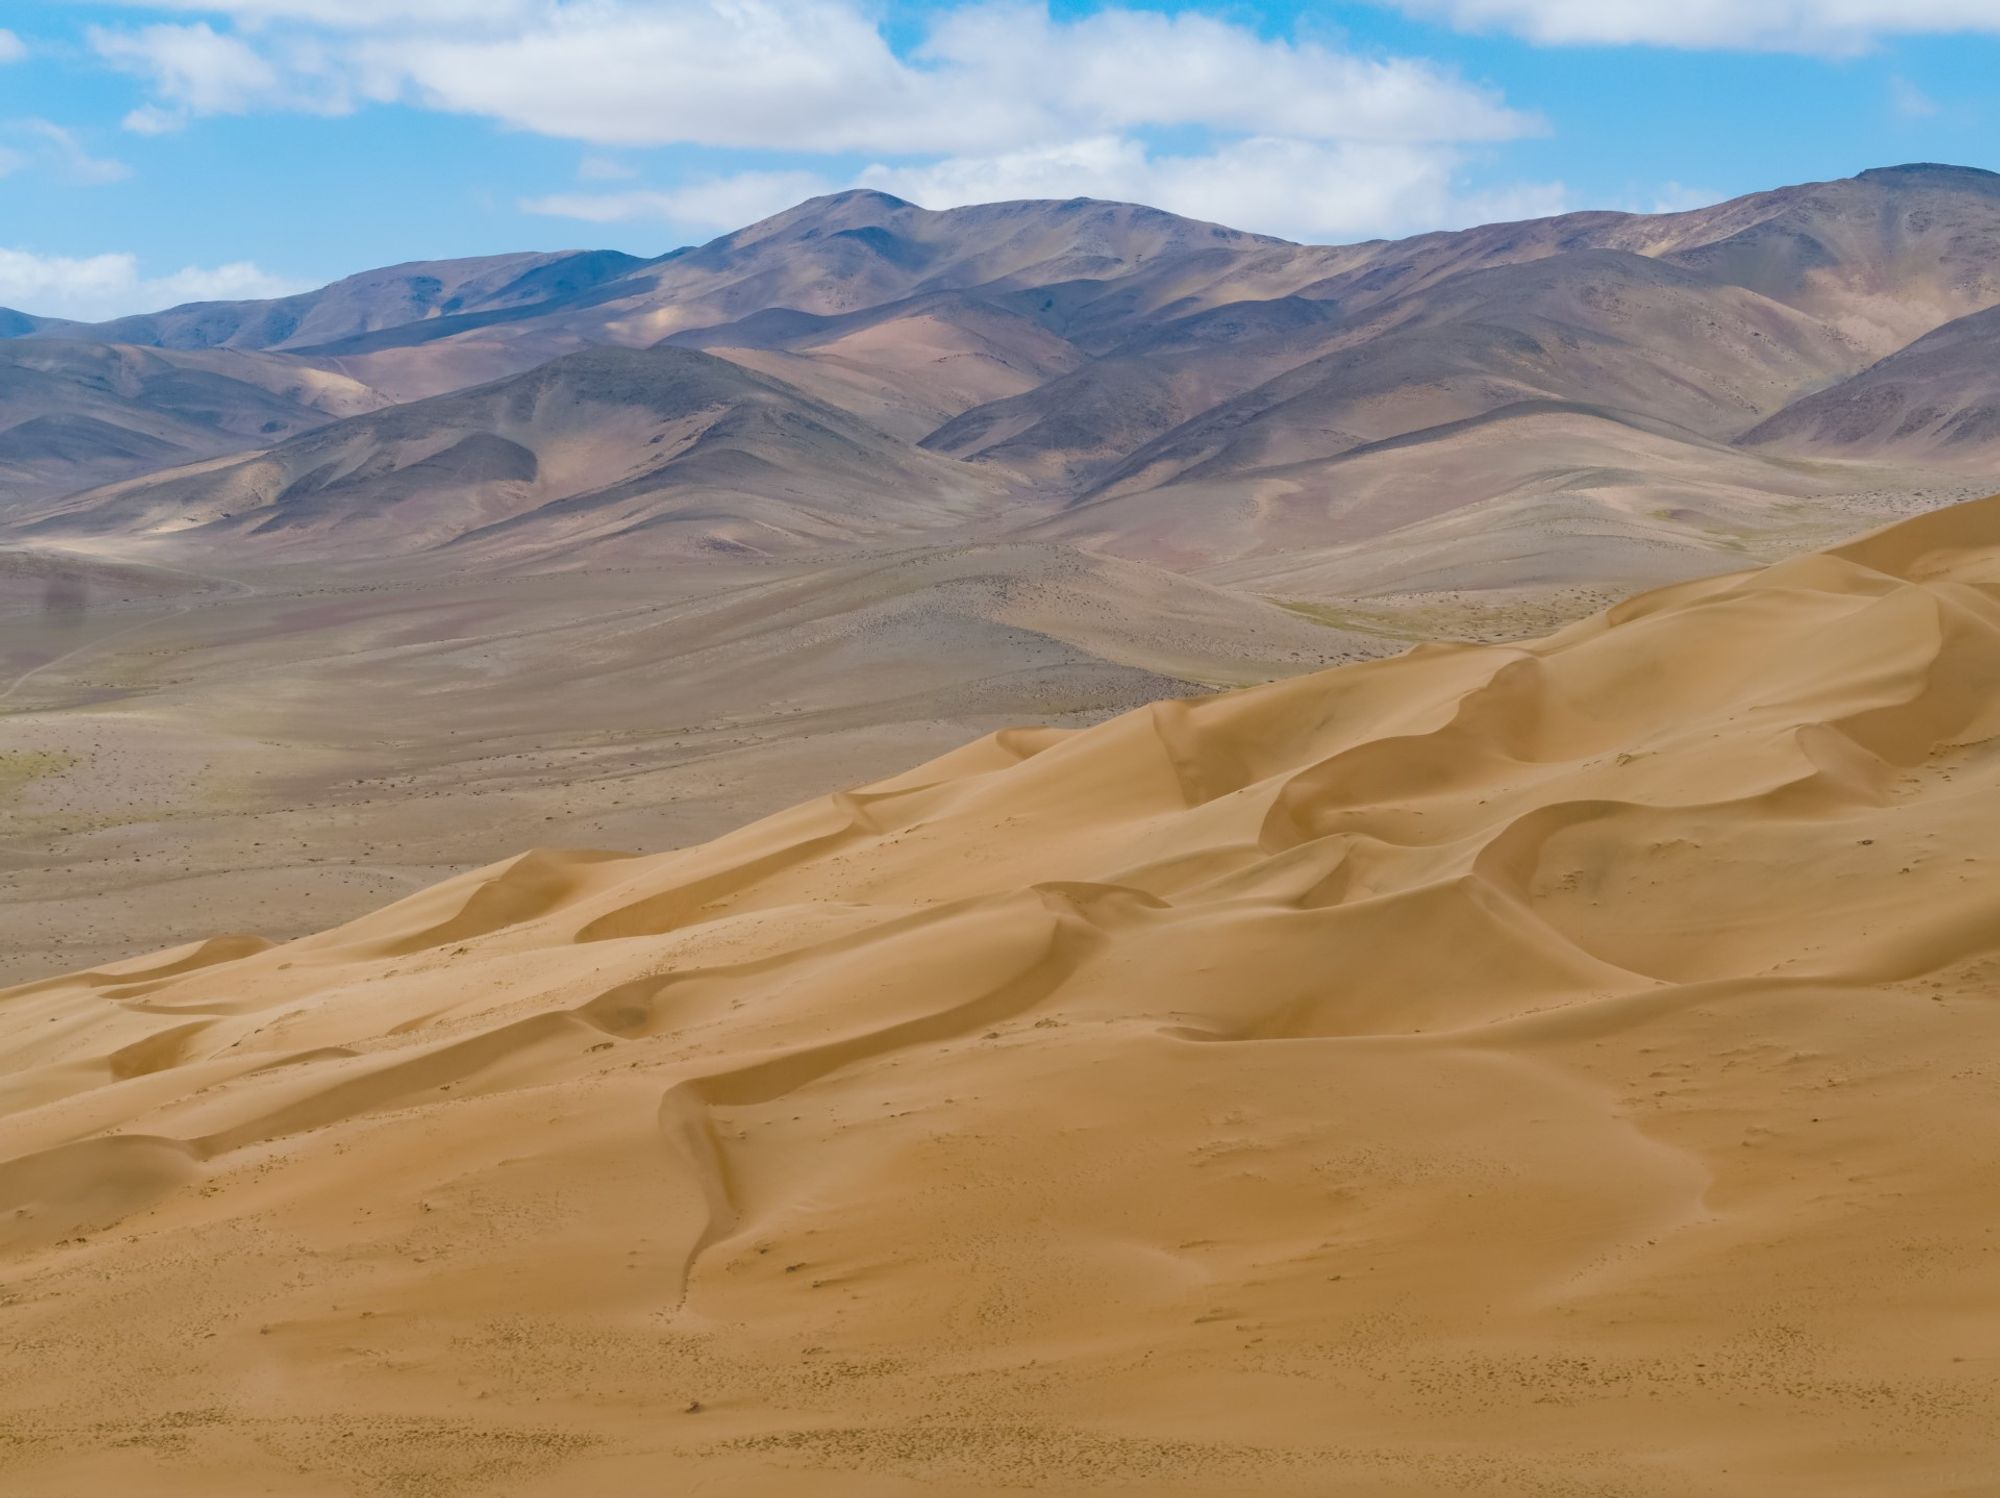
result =
[[842,194],[24,328],[0,1482],[1980,1492],[1996,244]]

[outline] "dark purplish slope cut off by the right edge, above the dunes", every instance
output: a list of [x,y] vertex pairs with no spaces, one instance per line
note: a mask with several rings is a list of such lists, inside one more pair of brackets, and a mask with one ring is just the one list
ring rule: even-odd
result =
[[1990,464],[2000,452],[2000,306],[1954,318],[1880,364],[1796,400],[1744,446]]

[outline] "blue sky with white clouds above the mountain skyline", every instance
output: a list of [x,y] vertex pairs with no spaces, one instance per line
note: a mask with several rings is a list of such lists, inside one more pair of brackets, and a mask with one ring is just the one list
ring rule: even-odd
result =
[[812,192],[1358,240],[2000,168],[2000,0],[0,0],[0,306],[658,254]]

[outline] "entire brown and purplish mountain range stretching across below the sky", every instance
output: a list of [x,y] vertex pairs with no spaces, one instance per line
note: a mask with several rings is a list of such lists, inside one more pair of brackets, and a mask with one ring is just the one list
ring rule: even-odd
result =
[[656,260],[0,312],[0,514],[288,558],[1028,538],[1312,596],[1396,538],[1438,586],[1660,580],[1990,464],[1996,250],[2000,176],[1932,164],[1352,246],[844,192]]

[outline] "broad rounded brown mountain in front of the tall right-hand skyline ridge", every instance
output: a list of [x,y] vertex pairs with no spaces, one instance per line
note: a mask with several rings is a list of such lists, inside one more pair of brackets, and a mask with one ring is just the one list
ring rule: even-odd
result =
[[[1306,358],[1314,340],[1330,352]],[[1582,250],[1462,272],[1362,322],[1298,320],[1276,336],[1100,360],[1062,384],[968,412],[928,446],[1036,468],[1060,454],[1084,496],[1142,492],[1336,458],[1522,400],[1614,406],[1726,438],[1826,370],[1862,360],[1836,332],[1780,302],[1660,260]],[[1256,378],[1272,368],[1282,372]],[[1124,404],[1186,420],[1148,432],[1090,410],[1078,386],[1108,370],[1130,370],[1160,392],[1178,380],[1192,400]],[[1006,440],[986,442],[996,426]],[[1126,446],[1116,440],[1126,432],[1150,440]],[[1092,456],[1094,472],[1080,462]]]

